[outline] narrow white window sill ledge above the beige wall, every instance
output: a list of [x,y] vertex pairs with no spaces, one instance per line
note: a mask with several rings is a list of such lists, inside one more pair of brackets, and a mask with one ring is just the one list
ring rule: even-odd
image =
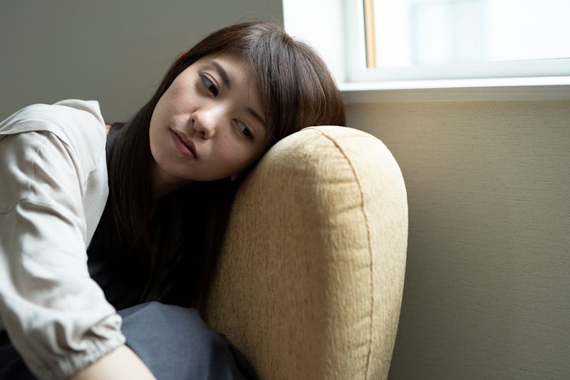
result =
[[570,100],[570,76],[341,83],[346,103]]

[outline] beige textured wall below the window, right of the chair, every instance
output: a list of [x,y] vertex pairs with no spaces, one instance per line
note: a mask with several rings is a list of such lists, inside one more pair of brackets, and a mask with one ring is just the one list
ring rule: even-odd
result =
[[570,376],[570,101],[368,103],[410,234],[390,379]]

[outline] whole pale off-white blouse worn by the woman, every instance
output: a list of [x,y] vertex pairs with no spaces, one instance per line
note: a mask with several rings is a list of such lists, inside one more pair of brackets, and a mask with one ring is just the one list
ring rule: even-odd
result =
[[105,141],[96,101],[36,104],[0,123],[0,330],[39,379],[125,342],[87,268],[108,197]]

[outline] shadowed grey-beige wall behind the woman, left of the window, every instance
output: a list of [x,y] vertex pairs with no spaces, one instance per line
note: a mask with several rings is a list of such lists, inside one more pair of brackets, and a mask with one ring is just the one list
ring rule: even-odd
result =
[[172,61],[210,31],[283,22],[281,0],[5,1],[0,120],[31,103],[100,101],[108,121],[144,104]]

